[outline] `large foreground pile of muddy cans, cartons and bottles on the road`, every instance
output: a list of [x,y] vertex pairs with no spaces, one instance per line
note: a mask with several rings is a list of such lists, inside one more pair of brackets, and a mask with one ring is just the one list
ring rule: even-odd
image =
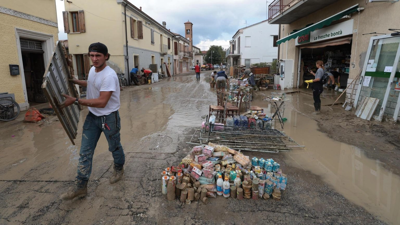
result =
[[287,175],[273,159],[251,160],[223,145],[199,145],[178,166],[162,171],[162,194],[170,201],[208,203],[217,195],[225,198],[277,201],[286,189]]

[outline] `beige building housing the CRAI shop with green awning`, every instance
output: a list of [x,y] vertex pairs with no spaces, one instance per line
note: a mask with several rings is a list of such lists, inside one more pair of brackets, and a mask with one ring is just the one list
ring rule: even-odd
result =
[[[374,46],[379,46],[379,43],[376,45],[377,43],[373,42],[372,38],[381,35],[382,38],[387,38],[384,37],[385,34],[389,37],[390,34],[392,37],[398,36],[396,30],[388,29],[398,28],[400,2],[373,0],[326,0],[323,2],[290,0],[288,2],[290,4],[287,5],[286,1],[285,5],[282,0],[275,0],[268,6],[269,23],[280,24],[277,42],[279,45],[278,60],[283,63],[287,60],[286,65],[291,64],[290,60],[293,61],[292,74],[282,75],[282,71],[280,71],[281,80],[286,80],[284,87],[286,88],[286,83],[288,83],[287,86],[290,88],[302,88],[304,80],[309,78],[307,70],[314,69],[315,71],[315,61],[323,60],[327,70],[338,71],[343,78],[346,78],[345,84],[341,83],[340,85],[343,89],[347,85],[349,86],[346,91],[348,102],[359,103],[363,96],[367,95],[379,98],[381,103],[374,112],[376,119],[382,120],[382,116],[396,118],[399,92],[394,89],[400,74],[394,72],[395,82],[393,85],[388,82],[390,72],[383,75],[369,74],[370,78],[367,79],[374,80],[369,87],[364,86],[363,88],[362,82],[364,77],[368,77],[367,67],[369,66],[367,66],[368,62],[365,64],[365,59],[374,58],[377,63],[379,58],[379,54],[377,54],[378,56],[371,55]],[[385,43],[382,40],[380,44]],[[386,66],[392,66],[396,58],[398,41],[385,39],[386,42],[388,40],[394,44],[392,44],[392,50],[382,48],[382,51],[386,50],[386,52],[382,52],[385,58],[380,57],[377,68],[382,72],[385,67],[383,63],[386,63]],[[389,46],[387,45],[386,48]],[[374,66],[376,67],[376,65]],[[282,68],[280,69],[282,70]],[[354,82],[355,85],[350,85],[355,78],[357,78]],[[340,80],[343,81],[342,78]],[[362,90],[358,90],[359,88]],[[386,89],[388,90],[386,91]],[[388,97],[385,97],[386,92]],[[382,103],[386,101],[385,98],[388,98],[386,99],[386,109],[383,107],[381,110]]]

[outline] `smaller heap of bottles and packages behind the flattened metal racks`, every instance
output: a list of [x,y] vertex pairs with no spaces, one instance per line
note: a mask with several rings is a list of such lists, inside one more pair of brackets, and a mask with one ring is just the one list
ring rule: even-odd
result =
[[229,116],[226,118],[227,126],[237,126],[237,127],[250,127],[250,128],[262,128],[262,129],[271,129],[272,127],[272,118],[268,118],[268,116],[261,111],[249,110],[244,112],[240,116]]

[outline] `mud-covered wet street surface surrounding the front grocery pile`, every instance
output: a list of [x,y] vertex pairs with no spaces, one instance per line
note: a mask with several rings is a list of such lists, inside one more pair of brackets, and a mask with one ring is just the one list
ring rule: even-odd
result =
[[[207,81],[190,75],[166,78],[121,92],[124,179],[110,184],[112,156],[100,138],[88,196],[61,201],[73,184],[79,156],[58,121],[16,123],[0,131],[0,224],[398,224],[399,177],[368,159],[362,149],[329,139],[316,121],[296,110],[288,95],[284,131],[304,149],[245,153],[273,158],[288,174],[281,201],[210,199],[184,205],[161,194],[161,171],[177,165],[192,147],[192,129],[216,102]],[[253,104],[271,108],[257,93]],[[310,98],[312,98],[310,96]],[[83,111],[84,117],[87,109]],[[81,117],[80,130],[82,131]],[[54,119],[53,119],[54,120]],[[278,124],[276,124],[277,126]],[[12,137],[15,135],[15,137]]]

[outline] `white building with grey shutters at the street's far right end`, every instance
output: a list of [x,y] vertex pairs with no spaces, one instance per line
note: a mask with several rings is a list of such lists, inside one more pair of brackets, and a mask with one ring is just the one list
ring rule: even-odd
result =
[[278,24],[268,20],[240,28],[230,41],[230,52],[226,56],[228,66],[272,62],[278,58]]

